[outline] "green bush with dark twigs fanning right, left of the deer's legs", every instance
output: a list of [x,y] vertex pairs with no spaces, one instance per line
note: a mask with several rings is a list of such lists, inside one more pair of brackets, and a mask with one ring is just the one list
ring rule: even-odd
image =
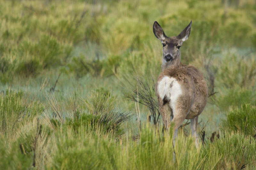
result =
[[91,101],[85,101],[89,113],[82,113],[76,109],[73,116],[67,118],[67,124],[77,133],[81,126],[87,129],[87,133],[107,134],[109,136],[120,136],[124,134],[122,124],[128,121],[132,114],[130,112],[117,111],[113,105],[113,97],[108,90],[96,90]]

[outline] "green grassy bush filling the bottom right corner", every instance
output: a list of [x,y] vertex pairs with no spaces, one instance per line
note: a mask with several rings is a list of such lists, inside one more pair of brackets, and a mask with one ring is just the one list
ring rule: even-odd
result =
[[227,133],[201,147],[202,169],[253,169],[256,166],[255,152],[256,141],[251,136]]

